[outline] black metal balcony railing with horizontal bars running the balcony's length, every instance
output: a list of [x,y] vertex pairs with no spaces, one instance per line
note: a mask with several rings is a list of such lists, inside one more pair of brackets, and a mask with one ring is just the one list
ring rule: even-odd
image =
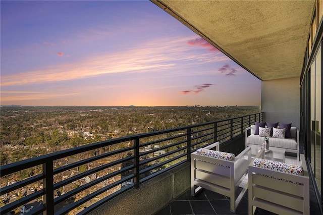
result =
[[2,183],[19,178],[22,171],[38,174],[18,182],[8,181],[1,188],[0,213],[17,211],[36,202],[28,214],[86,214],[119,194],[189,162],[190,153],[197,148],[228,141],[243,134],[254,122],[262,121],[263,113],[257,113],[111,139],[2,166]]

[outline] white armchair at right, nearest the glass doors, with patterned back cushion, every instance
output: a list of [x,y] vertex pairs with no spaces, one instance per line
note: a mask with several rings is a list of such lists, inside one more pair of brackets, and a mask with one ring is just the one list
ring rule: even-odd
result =
[[[265,160],[264,149],[248,168],[249,215],[256,207],[277,214],[309,214],[309,176],[304,154],[301,166]],[[260,158],[260,159],[259,159]]]

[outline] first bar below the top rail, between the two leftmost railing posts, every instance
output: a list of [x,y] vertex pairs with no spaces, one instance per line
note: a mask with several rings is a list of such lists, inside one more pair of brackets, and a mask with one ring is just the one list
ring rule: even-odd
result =
[[119,154],[119,153],[122,153],[122,152],[125,152],[125,151],[130,151],[130,150],[133,150],[133,147],[122,148],[122,149],[118,149],[118,150],[115,150],[115,151],[100,154],[100,155],[97,155],[97,156],[89,157],[89,158],[80,160],[78,162],[74,162],[73,164],[57,168],[57,169],[53,170],[53,175],[62,173],[64,171],[73,169],[75,167],[79,167],[79,166],[84,165],[84,164],[88,164],[90,162],[93,162],[93,161],[98,160],[98,159],[102,159],[104,157],[112,156],[112,155]]

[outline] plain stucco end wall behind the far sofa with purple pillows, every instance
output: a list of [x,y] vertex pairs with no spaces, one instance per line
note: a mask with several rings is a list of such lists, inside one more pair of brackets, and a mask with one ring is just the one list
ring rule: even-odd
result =
[[292,123],[300,128],[299,78],[261,82],[261,111],[264,122]]

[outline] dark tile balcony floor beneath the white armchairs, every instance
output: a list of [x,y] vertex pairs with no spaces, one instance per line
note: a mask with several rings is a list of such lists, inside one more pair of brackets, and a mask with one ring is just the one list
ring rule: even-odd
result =
[[[242,189],[242,188],[239,188]],[[176,200],[158,211],[155,215],[179,215],[179,214],[233,214],[230,211],[230,200],[224,195],[203,189],[195,197],[187,190]],[[235,214],[248,214],[248,191],[243,196]],[[257,208],[255,214],[275,214]],[[310,214],[321,214],[313,188],[310,188]]]

